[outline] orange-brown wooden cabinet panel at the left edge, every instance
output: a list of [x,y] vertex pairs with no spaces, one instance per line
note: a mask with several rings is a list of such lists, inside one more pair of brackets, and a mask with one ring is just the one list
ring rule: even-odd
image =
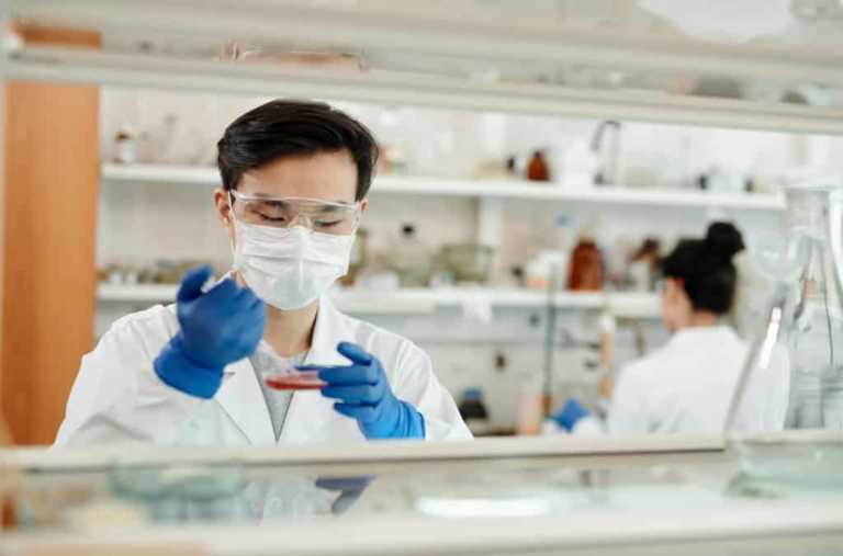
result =
[[[95,33],[21,33],[99,45]],[[4,93],[0,409],[16,443],[43,444],[93,341],[99,88],[11,81]]]

